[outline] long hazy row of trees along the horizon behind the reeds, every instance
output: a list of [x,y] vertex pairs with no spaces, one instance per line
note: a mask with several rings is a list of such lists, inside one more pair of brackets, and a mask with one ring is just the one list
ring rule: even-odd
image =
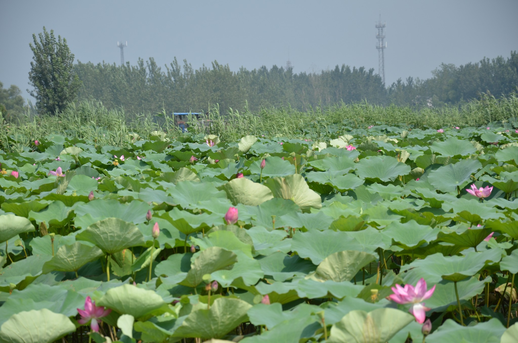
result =
[[214,61],[212,67],[194,69],[187,61],[183,67],[175,59],[165,70],[150,58],[116,64],[81,63],[75,70],[83,87],[80,99],[97,99],[108,108],[124,107],[127,112],[207,111],[212,104],[221,109],[249,109],[291,106],[297,110],[336,105],[340,102],[367,101],[376,105],[441,107],[458,105],[480,93],[507,95],[518,85],[518,53],[509,58],[484,59],[456,67],[442,64],[433,77],[409,77],[383,85],[374,69],[336,66],[319,73],[293,73],[273,66],[233,72],[228,65]]

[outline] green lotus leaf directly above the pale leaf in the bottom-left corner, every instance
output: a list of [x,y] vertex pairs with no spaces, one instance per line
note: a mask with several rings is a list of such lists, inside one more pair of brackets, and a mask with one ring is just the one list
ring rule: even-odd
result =
[[0,325],[13,314],[21,311],[46,308],[54,313],[70,317],[77,315],[77,308],[84,305],[84,295],[71,288],[30,284],[23,291],[13,290],[7,301],[0,307]]

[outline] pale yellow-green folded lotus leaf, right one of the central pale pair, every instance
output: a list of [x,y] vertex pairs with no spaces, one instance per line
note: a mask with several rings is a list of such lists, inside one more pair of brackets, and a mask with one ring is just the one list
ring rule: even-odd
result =
[[306,180],[300,174],[270,178],[265,181],[265,185],[275,197],[291,199],[303,211],[309,211],[311,207],[322,207],[320,195],[309,189]]

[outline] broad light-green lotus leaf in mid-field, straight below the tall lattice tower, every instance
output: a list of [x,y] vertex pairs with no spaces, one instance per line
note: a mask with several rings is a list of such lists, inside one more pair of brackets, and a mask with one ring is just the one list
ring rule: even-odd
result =
[[356,175],[361,178],[394,181],[399,175],[410,173],[410,166],[398,162],[392,156],[370,156],[361,159],[356,166]]

